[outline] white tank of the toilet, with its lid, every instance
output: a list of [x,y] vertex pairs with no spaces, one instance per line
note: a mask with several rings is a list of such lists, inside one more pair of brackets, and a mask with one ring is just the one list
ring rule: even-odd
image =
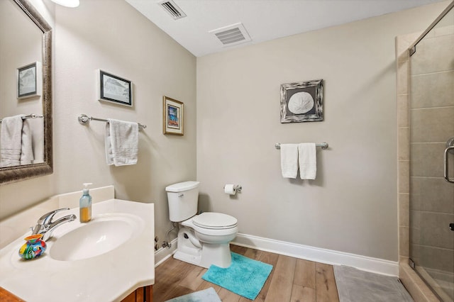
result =
[[196,215],[199,184],[199,181],[184,181],[165,187],[170,221],[180,222]]

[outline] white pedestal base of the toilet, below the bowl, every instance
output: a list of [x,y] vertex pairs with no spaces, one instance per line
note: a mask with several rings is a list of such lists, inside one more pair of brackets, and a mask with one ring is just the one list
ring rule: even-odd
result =
[[200,242],[196,239],[194,230],[184,227],[178,231],[177,252],[173,257],[207,269],[211,264],[216,267],[230,267],[232,262],[229,242],[221,244]]

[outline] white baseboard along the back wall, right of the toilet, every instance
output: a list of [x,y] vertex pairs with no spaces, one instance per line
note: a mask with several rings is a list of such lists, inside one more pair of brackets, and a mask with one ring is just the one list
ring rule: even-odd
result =
[[239,234],[231,242],[233,245],[251,247],[255,250],[274,252],[295,258],[301,258],[326,264],[347,265],[368,272],[386,274],[389,276],[399,275],[399,263],[385,259],[366,257],[361,255],[326,250],[308,245],[298,245],[292,242],[272,240],[253,235]]

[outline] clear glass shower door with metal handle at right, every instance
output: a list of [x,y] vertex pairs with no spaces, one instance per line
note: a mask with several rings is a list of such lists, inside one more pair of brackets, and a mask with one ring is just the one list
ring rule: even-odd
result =
[[442,301],[454,301],[453,9],[410,57],[409,107],[410,261]]

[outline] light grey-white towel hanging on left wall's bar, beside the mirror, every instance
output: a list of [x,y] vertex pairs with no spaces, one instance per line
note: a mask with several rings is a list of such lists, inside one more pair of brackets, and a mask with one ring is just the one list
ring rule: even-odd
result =
[[116,167],[137,164],[139,125],[110,118],[106,124],[106,162]]

